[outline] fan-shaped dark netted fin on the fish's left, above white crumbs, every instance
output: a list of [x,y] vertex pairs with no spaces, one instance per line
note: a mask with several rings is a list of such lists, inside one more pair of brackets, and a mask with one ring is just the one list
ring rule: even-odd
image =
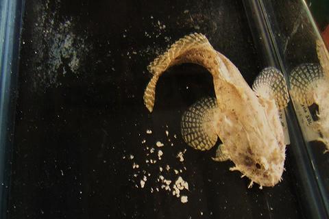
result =
[[195,149],[209,150],[217,142],[213,127],[217,101],[213,97],[204,98],[193,104],[182,116],[181,132],[186,144]]

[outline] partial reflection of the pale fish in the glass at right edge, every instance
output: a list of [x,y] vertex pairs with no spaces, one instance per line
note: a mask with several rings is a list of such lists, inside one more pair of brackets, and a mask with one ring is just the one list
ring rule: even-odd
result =
[[317,140],[326,144],[326,153],[329,151],[329,53],[320,40],[317,40],[317,56],[320,64],[296,66],[291,71],[289,81],[291,95],[297,102],[308,106],[315,103],[319,106],[319,120],[311,127],[321,132],[322,136]]

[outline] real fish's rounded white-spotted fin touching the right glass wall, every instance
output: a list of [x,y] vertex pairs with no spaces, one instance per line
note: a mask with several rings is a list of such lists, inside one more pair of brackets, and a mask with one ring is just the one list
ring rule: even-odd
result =
[[256,77],[252,89],[260,96],[273,98],[279,110],[289,103],[286,80],[277,68],[264,68]]

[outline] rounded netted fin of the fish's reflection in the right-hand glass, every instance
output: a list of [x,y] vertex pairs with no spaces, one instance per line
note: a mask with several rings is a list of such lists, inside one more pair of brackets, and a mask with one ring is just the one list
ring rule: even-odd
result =
[[300,64],[293,68],[289,76],[291,95],[299,103],[312,105],[313,91],[321,79],[324,79],[324,71],[319,64]]

